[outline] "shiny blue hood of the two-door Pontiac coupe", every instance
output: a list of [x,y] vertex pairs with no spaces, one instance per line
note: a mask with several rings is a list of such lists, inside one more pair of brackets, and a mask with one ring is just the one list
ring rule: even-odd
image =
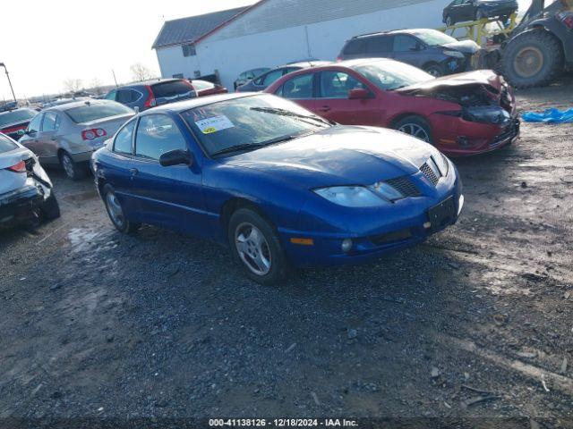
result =
[[372,184],[418,172],[437,149],[394,130],[337,125],[221,162],[305,188]]

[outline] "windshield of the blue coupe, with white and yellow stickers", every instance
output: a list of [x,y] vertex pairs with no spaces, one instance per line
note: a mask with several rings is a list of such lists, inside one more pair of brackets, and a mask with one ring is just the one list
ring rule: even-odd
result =
[[250,150],[330,127],[299,105],[267,94],[201,105],[181,115],[210,155],[234,147]]

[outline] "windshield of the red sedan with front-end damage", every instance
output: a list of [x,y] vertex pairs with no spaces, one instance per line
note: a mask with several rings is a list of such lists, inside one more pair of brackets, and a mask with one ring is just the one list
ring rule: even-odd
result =
[[431,74],[426,73],[412,65],[398,63],[397,61],[374,61],[356,65],[353,69],[370,80],[378,88],[392,90],[407,87],[426,80],[435,79]]

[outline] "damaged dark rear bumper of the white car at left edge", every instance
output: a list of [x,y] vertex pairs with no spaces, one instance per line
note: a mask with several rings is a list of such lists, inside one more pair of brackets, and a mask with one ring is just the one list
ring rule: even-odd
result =
[[0,227],[33,223],[50,195],[51,190],[33,178],[21,189],[0,195]]

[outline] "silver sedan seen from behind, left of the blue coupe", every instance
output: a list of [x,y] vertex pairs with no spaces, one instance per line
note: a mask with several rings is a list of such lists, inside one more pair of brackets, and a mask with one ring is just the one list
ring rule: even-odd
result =
[[134,114],[131,108],[109,100],[55,105],[30,121],[20,143],[43,165],[59,165],[70,179],[79,180],[88,172],[91,154]]

